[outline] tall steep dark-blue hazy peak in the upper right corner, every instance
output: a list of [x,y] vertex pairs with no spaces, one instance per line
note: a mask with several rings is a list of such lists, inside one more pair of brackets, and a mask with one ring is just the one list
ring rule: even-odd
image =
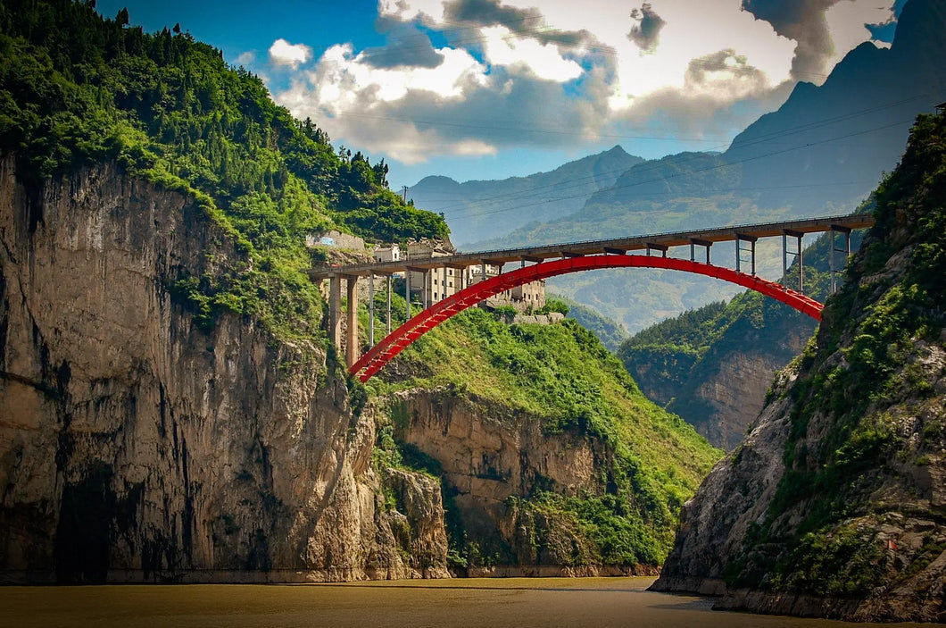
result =
[[[762,206],[813,215],[863,196],[892,170],[917,114],[946,99],[946,7],[909,0],[889,49],[859,45],[820,87],[798,83],[779,111],[737,135],[727,161]],[[791,185],[786,185],[790,183]]]

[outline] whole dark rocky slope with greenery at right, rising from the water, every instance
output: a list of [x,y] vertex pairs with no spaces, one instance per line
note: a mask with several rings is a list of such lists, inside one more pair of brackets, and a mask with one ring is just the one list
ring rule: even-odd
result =
[[817,335],[684,508],[657,590],[946,620],[946,116],[922,116]]

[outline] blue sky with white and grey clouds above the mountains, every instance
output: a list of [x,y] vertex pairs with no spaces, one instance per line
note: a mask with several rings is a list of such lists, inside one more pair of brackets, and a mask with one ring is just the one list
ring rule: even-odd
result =
[[180,24],[392,188],[504,179],[620,144],[724,151],[797,81],[888,46],[905,0],[98,0]]

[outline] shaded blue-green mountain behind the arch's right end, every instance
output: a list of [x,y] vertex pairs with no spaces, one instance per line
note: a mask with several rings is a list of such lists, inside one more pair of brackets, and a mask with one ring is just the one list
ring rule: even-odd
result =
[[[867,210],[867,206],[865,206]],[[851,234],[851,250],[861,234]],[[804,250],[806,294],[830,294],[830,236]],[[797,282],[789,269],[788,285]],[[648,398],[687,419],[717,447],[731,451],[762,411],[777,370],[804,348],[815,320],[747,291],[657,323],[622,343],[618,355]]]

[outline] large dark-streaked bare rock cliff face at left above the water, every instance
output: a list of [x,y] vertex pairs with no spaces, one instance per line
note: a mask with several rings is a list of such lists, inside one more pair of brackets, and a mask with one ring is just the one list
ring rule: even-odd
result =
[[[0,579],[443,576],[439,487],[376,473],[324,346],[201,332],[184,276],[244,260],[113,166],[27,193],[0,163]],[[394,503],[384,493],[394,493]],[[420,551],[419,548],[423,548]]]

